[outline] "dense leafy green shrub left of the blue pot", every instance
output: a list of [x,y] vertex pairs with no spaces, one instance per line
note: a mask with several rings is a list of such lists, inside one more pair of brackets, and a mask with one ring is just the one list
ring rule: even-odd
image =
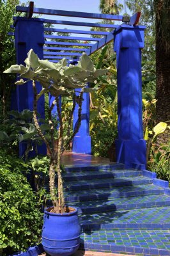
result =
[[27,165],[0,151],[0,254],[24,250],[40,239],[42,213],[22,174]]

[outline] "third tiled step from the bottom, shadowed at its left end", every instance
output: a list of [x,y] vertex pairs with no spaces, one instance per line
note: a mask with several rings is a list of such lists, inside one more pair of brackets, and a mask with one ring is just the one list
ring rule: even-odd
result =
[[90,214],[94,212],[169,206],[170,196],[143,195],[128,198],[107,198],[106,200],[94,200],[90,202],[69,202],[68,205],[77,207],[79,214]]

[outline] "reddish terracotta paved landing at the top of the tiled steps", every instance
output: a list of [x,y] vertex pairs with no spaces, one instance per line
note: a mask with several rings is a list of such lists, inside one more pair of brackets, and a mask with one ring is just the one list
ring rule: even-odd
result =
[[105,157],[95,157],[87,154],[75,154],[66,151],[63,153],[63,156],[61,156],[61,163],[65,164],[65,166],[88,166],[93,164],[108,164],[111,162]]

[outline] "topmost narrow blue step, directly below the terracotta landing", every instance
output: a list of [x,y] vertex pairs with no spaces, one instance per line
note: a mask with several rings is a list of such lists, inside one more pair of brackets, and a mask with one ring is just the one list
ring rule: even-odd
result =
[[123,170],[124,164],[120,163],[110,163],[110,164],[79,164],[76,166],[66,166],[66,172],[80,172],[80,171],[98,171],[98,170],[115,170],[120,169]]

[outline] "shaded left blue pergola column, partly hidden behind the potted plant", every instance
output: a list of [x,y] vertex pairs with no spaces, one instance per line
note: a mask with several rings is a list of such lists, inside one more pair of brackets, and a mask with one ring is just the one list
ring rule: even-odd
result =
[[[43,21],[44,19],[27,19],[25,17],[17,17],[15,20],[15,49],[17,56],[17,64],[23,64],[27,58],[27,52],[33,49],[38,55],[40,60],[43,60]],[[36,83],[37,91],[40,92],[41,86]],[[33,88],[31,82],[24,84],[24,86],[17,86],[16,91],[17,109],[22,111],[23,109],[33,110]],[[44,97],[38,100],[38,113],[45,118],[44,109]],[[19,154],[23,155],[26,149],[26,143],[20,143]],[[38,147],[38,154],[46,154],[47,150],[45,145]],[[35,152],[31,152],[30,156],[35,156]]]

